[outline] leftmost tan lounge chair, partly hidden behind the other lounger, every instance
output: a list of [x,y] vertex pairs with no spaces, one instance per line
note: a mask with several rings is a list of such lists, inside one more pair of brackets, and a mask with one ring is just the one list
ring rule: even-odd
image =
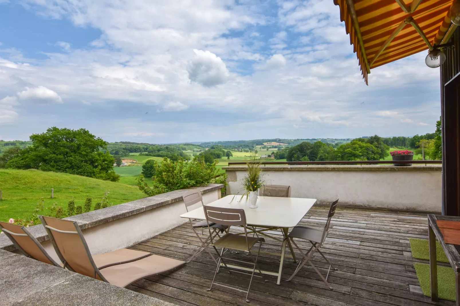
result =
[[[0,221],[0,230],[5,232],[11,242],[25,256],[34,258],[38,261],[46,262],[50,265],[63,266],[63,264],[58,264],[48,253],[46,253],[42,245],[26,229],[26,227]],[[103,269],[108,266],[137,261],[150,255],[150,252],[143,252],[134,249],[117,249],[113,252],[94,255],[92,258],[96,263],[96,266],[99,269]]]

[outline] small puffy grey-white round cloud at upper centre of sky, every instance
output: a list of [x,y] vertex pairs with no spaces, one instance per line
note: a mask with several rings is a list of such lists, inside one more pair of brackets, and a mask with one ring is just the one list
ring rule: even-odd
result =
[[193,50],[195,57],[187,65],[189,79],[205,87],[212,87],[227,82],[229,71],[224,61],[209,51]]

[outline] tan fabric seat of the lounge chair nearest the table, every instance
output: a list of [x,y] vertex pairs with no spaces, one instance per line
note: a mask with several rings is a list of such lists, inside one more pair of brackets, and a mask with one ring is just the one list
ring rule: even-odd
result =
[[100,272],[109,283],[119,287],[127,287],[140,279],[168,272],[184,264],[185,261],[151,255],[138,261],[109,266]]

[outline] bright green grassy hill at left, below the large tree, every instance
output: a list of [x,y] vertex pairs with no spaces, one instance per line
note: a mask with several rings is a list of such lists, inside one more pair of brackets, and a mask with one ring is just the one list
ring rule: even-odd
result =
[[[54,188],[54,198],[51,198],[51,188]],[[137,187],[123,183],[40,170],[0,169],[0,189],[3,190],[0,221],[31,216],[40,198],[45,199],[45,207],[57,203],[66,210],[72,198],[75,205],[83,205],[86,197],[91,197],[94,207],[106,191],[109,191],[109,204],[114,205],[145,197]],[[43,214],[46,212],[49,210]]]

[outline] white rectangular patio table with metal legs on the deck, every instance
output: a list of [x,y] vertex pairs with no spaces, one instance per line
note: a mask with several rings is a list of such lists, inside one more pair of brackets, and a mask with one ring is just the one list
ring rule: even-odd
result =
[[[277,284],[280,284],[281,281],[281,272],[283,267],[284,260],[284,251],[286,249],[286,241],[284,239],[288,236],[289,227],[295,227],[300,220],[305,216],[306,213],[311,209],[313,204],[316,203],[314,198],[278,198],[278,197],[262,197],[259,196],[257,200],[257,208],[249,208],[249,201],[246,201],[246,197],[241,201],[241,195],[228,195],[224,198],[220,198],[217,201],[207,204],[207,206],[214,207],[224,207],[224,208],[239,208],[243,209],[246,214],[246,221],[248,229],[253,227],[253,232],[273,238],[277,241],[282,242],[281,253],[266,253],[270,255],[281,256],[280,259],[280,268],[278,272],[271,271],[262,271],[262,273],[275,275],[278,277]],[[188,213],[180,215],[182,218],[206,220],[204,215],[204,210],[202,207],[199,207],[195,210],[191,210]],[[256,227],[262,228],[257,229]],[[283,234],[283,239],[275,238],[268,235],[267,232],[275,229],[281,229]],[[294,251],[290,242],[288,241],[288,246],[291,250],[292,257],[296,261]],[[263,253],[262,251],[260,253]],[[232,266],[233,268],[246,270],[247,268]],[[252,269],[249,269],[252,271]]]

